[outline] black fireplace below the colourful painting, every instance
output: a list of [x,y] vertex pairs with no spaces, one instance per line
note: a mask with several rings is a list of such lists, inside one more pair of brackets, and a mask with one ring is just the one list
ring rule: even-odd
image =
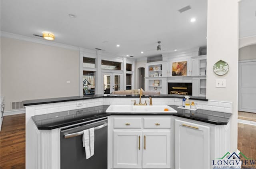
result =
[[168,94],[192,95],[192,83],[168,83]]

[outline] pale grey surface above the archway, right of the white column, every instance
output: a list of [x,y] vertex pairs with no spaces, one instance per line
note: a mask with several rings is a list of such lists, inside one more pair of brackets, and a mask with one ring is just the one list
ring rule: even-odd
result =
[[239,4],[239,37],[256,36],[256,0],[242,0]]

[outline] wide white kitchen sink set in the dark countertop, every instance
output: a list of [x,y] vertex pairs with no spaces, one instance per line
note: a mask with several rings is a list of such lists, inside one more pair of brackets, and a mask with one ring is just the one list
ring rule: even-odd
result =
[[[168,109],[168,111],[164,111]],[[177,113],[168,105],[110,105],[106,113]]]

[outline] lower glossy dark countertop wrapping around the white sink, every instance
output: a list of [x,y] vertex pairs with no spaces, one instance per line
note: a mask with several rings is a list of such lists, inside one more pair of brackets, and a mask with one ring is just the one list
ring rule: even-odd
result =
[[92,119],[97,119],[101,117],[107,117],[109,115],[174,115],[178,117],[183,117],[186,119],[192,119],[196,121],[202,121],[205,123],[211,123],[215,125],[226,125],[230,120],[230,113],[223,113],[217,111],[209,111],[198,109],[196,111],[178,109],[176,105],[170,105],[170,107],[176,109],[178,113],[142,113],[142,114],[118,114],[118,113],[106,113],[108,105],[101,105],[95,107],[88,107],[84,109],[76,109],[70,111],[62,111],[57,113],[35,115],[32,117],[34,123],[38,129],[56,129],[59,127],[64,127],[67,125],[72,125],[76,123],[81,123],[84,121],[89,121]]

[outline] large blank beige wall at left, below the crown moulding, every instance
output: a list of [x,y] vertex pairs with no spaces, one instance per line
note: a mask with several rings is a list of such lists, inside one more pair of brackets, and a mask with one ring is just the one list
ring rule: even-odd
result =
[[78,51],[1,37],[6,111],[14,101],[79,95],[78,59]]

